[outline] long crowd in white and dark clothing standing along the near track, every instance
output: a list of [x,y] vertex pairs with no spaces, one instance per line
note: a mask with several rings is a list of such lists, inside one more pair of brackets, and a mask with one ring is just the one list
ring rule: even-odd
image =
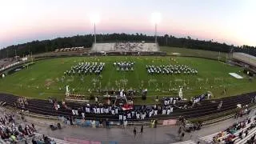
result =
[[[120,92],[120,97],[118,100],[116,98],[106,98],[106,102],[99,102],[99,98],[95,97],[95,103],[87,103],[85,106],[81,107],[68,107],[63,101],[62,106],[66,109],[70,109],[72,114],[76,117],[86,118],[86,114],[95,115],[115,115],[117,116],[119,122],[124,122],[129,119],[140,119],[152,118],[155,115],[170,115],[173,113],[174,109],[189,109],[193,106],[194,102],[200,102],[206,98],[206,94],[194,97],[191,102],[181,102],[182,98],[179,97],[163,97],[162,103],[154,106],[133,106],[133,102],[126,102],[123,95],[127,94],[125,91]],[[122,96],[121,96],[122,95]],[[129,95],[129,94],[128,94]],[[60,105],[57,101],[54,103],[54,109],[58,110]],[[191,105],[189,105],[191,103]]]

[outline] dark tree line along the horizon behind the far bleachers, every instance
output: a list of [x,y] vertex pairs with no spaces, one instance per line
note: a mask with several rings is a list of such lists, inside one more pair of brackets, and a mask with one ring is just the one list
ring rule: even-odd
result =
[[[146,34],[97,34],[98,42],[154,42],[154,36]],[[23,44],[7,46],[0,50],[0,58],[11,58],[15,55],[24,56],[27,54],[39,54],[64,47],[84,46],[91,47],[94,42],[94,35],[76,35],[73,37],[55,38],[52,40],[33,41]],[[226,43],[214,42],[213,40],[205,41],[190,38],[176,38],[172,35],[165,34],[158,36],[159,46],[175,46],[198,50],[211,50],[220,52],[244,52],[256,56],[256,46],[234,46]]]

